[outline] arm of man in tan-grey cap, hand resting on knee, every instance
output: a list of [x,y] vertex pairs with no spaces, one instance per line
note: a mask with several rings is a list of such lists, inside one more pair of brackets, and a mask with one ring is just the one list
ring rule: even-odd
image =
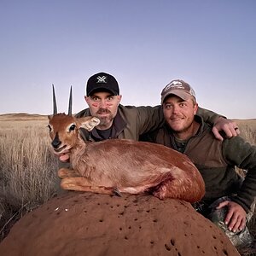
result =
[[241,137],[224,140],[224,159],[230,165],[236,165],[247,170],[246,177],[237,195],[230,197],[231,201],[224,201],[218,205],[228,207],[229,211],[225,223],[233,232],[242,230],[246,225],[246,214],[251,211],[256,197],[256,147],[246,143]]

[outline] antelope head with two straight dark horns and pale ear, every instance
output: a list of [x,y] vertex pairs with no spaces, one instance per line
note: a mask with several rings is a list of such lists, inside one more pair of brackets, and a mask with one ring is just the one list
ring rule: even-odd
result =
[[91,131],[96,125],[99,125],[100,120],[91,116],[77,119],[72,115],[72,87],[70,88],[68,114],[57,113],[54,85],[53,103],[54,113],[48,116],[51,146],[55,154],[67,154],[78,143],[79,128]]

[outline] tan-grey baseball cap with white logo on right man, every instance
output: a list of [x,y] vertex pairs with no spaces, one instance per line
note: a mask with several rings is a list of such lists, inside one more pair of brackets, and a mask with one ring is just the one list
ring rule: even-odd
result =
[[195,97],[195,90],[186,82],[180,79],[172,80],[161,92],[161,104],[165,102],[166,96],[176,95],[187,101],[191,96]]

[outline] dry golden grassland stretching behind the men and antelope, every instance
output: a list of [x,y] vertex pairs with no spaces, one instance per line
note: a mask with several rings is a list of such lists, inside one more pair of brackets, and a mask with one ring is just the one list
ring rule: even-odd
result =
[[[256,119],[236,123],[241,137],[256,145]],[[0,241],[17,219],[58,189],[58,162],[49,150],[47,125],[47,116],[0,115]]]

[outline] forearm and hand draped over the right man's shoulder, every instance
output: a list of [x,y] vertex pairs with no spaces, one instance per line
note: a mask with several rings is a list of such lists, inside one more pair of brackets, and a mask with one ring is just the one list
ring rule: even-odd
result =
[[201,115],[205,122],[213,126],[212,132],[220,141],[223,141],[224,138],[220,135],[219,131],[224,131],[226,137],[236,137],[240,134],[236,122],[226,119],[218,113],[214,113],[205,108],[198,108],[197,114]]

